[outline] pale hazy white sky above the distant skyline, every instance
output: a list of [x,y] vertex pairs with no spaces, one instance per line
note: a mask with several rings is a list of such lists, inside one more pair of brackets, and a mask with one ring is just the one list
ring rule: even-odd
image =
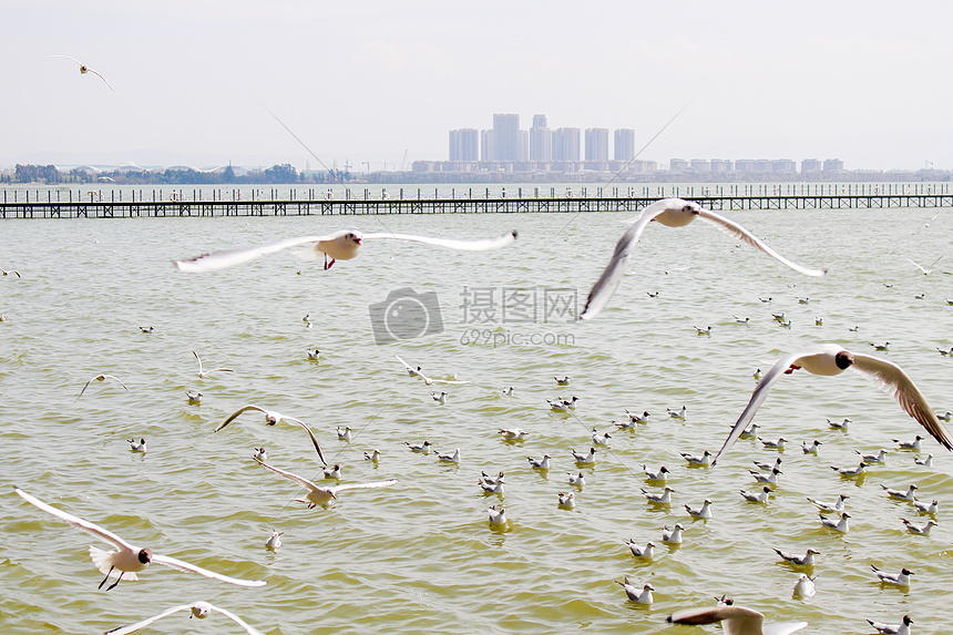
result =
[[399,170],[445,161],[450,130],[494,113],[629,127],[641,147],[682,111],[641,158],[953,170],[945,1],[3,0],[0,16],[0,166]]

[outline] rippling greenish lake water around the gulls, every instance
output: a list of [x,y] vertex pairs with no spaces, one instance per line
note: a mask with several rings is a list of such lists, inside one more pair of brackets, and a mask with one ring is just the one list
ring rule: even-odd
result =
[[[0,267],[22,278],[0,277],[2,481],[158,553],[268,584],[242,588],[154,565],[139,582],[98,591],[102,576],[88,545],[105,545],[8,488],[0,495],[0,629],[103,632],[205,600],[269,634],[687,635],[705,629],[666,627],[665,616],[728,594],[771,621],[807,619],[806,633],[868,633],[867,618],[898,623],[904,614],[918,633],[949,633],[953,457],[930,439],[923,453],[935,455],[932,470],[915,465],[911,452],[891,452],[859,482],[829,468],[855,464],[854,450],[890,450],[891,439],[922,433],[873,382],[854,372],[800,372],[775,387],[756,421],[764,438],[791,443],[767,506],[746,503],[738,490],[755,488],[752,459],[773,461],[777,452],[742,440],[715,469],[689,469],[679,457],[720,448],[757,368],[821,341],[858,352],[890,341],[890,351],[877,355],[903,367],[934,409],[953,409],[953,359],[935,350],[953,346],[953,306],[944,301],[953,299],[953,276],[941,273],[953,270],[953,216],[936,213],[730,214],[792,260],[829,268],[823,278],[738,247],[704,223],[650,226],[609,308],[584,324],[567,321],[564,310],[581,310],[628,215],[363,217],[365,232],[475,237],[515,228],[520,238],[482,254],[375,242],[327,272],[280,253],[205,275],[180,273],[171,260],[355,219],[6,222]],[[908,262],[926,266],[941,255],[929,276]],[[377,344],[369,307],[380,310],[389,293],[408,287],[428,298],[431,318],[427,303],[435,294],[442,330],[431,321],[421,337]],[[781,311],[790,329],[771,318]],[[695,326],[709,325],[710,336],[696,335]],[[321,350],[318,363],[308,359],[311,347]],[[235,372],[197,378],[193,350],[206,367]],[[430,376],[455,373],[470,383],[445,388],[439,406],[430,393],[440,388],[408,377],[396,355]],[[76,400],[99,373],[119,377],[129,392],[94,381]],[[553,377],[564,375],[572,385],[557,387]],[[501,393],[504,386],[515,388],[512,397]],[[201,406],[186,402],[186,390],[204,393]],[[546,399],[571,396],[580,398],[575,414],[549,411]],[[265,427],[248,413],[213,433],[247,403],[312,426],[329,461],[342,465],[341,482],[400,482],[305,509],[293,502],[301,494],[294,483],[250,459],[264,444],[269,463],[318,479],[300,429]],[[666,408],[683,404],[687,420],[669,420]],[[612,429],[625,409],[648,410],[650,423],[614,432],[611,451],[583,469],[587,484],[575,510],[557,509],[566,472],[580,471],[570,450],[587,449],[591,429]],[[853,421],[849,432],[826,422],[844,417]],[[353,429],[350,443],[337,440],[337,426]],[[512,427],[529,438],[504,442],[498,429]],[[130,451],[132,438],[147,440],[146,455]],[[819,457],[800,449],[813,439],[823,442]],[[441,452],[459,448],[459,467],[404,445],[423,440]],[[378,464],[363,460],[375,448]],[[543,453],[552,455],[549,473],[526,461]],[[672,471],[670,508],[646,504],[639,488],[659,488],[643,480],[644,463]],[[505,495],[484,496],[480,472],[500,470]],[[921,499],[941,502],[930,537],[905,533],[901,518],[926,518],[881,489],[910,483]],[[851,496],[847,535],[821,529],[805,500],[838,493]],[[715,518],[691,522],[683,504],[705,498]],[[504,531],[488,523],[489,505],[501,503],[511,521]],[[677,522],[685,543],[670,549],[660,528]],[[285,532],[277,553],[265,549],[271,528]],[[655,561],[636,561],[625,539],[654,541]],[[808,546],[821,552],[818,593],[795,600],[800,571],[771,547]],[[912,587],[881,587],[871,564],[909,567]],[[615,584],[626,575],[654,585],[654,605],[626,600]],[[240,631],[234,626],[221,615],[199,622],[180,613],[151,632]]]

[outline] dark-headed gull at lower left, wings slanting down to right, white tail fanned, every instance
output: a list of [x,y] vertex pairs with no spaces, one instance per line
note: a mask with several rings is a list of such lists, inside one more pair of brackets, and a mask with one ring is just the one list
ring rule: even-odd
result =
[[47,512],[48,514],[52,514],[58,519],[70,523],[74,528],[81,529],[90,535],[116,547],[116,551],[109,552],[103,551],[101,549],[96,549],[94,546],[90,547],[90,557],[92,559],[93,564],[96,566],[96,569],[100,570],[101,573],[104,573],[106,575],[105,578],[103,578],[103,581],[100,583],[100,588],[102,588],[103,584],[105,584],[106,581],[112,576],[115,576],[116,581],[111,586],[109,586],[106,591],[110,591],[116,584],[119,584],[123,576],[125,576],[126,580],[137,580],[135,574],[145,570],[145,567],[153,562],[172,569],[177,569],[178,571],[184,571],[186,573],[197,573],[198,575],[204,575],[205,577],[211,577],[221,582],[228,582],[230,584],[237,584],[239,586],[265,585],[264,580],[238,580],[236,577],[229,577],[227,575],[222,575],[221,573],[215,573],[214,571],[202,569],[201,566],[196,566],[194,564],[189,564],[187,562],[183,562],[181,560],[170,557],[167,555],[153,553],[150,549],[135,546],[124,541],[113,532],[103,529],[98,524],[91,523],[79,516],[74,516],[73,514],[66,513],[60,509],[49,505],[40,499],[28,494],[17,485],[13,485],[13,491],[17,492],[17,494],[21,499],[23,499],[31,505]]

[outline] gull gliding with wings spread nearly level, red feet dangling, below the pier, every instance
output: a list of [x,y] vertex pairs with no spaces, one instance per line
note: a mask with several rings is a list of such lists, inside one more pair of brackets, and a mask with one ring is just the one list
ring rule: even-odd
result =
[[276,254],[284,249],[307,245],[308,250],[306,252],[306,255],[309,257],[317,257],[319,254],[324,255],[325,269],[329,269],[337,260],[350,260],[357,256],[358,250],[365,240],[409,240],[411,243],[423,243],[426,245],[462,252],[488,252],[490,249],[505,247],[515,239],[515,232],[509,232],[498,238],[454,240],[431,238],[429,236],[411,236],[408,234],[362,234],[357,229],[341,229],[325,236],[298,236],[296,238],[286,238],[278,243],[270,243],[258,247],[228,249],[204,254],[186,260],[176,260],[175,266],[178,267],[180,270],[188,273],[216,272],[234,267],[236,265],[250,263],[262,256]]

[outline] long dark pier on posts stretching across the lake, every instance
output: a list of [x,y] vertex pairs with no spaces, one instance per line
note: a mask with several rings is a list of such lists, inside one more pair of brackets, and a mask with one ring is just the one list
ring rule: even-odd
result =
[[[885,209],[953,207],[953,194],[814,194],[693,196],[714,211]],[[360,216],[371,214],[523,214],[638,212],[657,197],[416,198],[318,201],[152,201],[0,203],[0,218],[137,218],[168,216]]]

